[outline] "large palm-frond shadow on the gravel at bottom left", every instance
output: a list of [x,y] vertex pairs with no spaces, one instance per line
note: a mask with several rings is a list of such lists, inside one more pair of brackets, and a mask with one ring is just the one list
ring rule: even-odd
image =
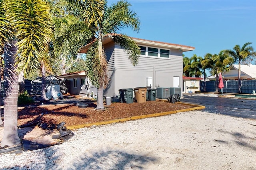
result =
[[[154,163],[156,158],[144,156],[140,154],[130,154],[120,150],[108,150],[94,152],[94,154],[84,154],[82,157],[70,156],[69,160],[65,160],[65,164],[61,162],[62,156],[57,153],[58,148],[46,148],[40,150],[40,156],[37,161],[33,161],[32,165],[13,166],[3,168],[1,170],[15,169],[37,169],[37,170],[91,170],[91,169],[144,169],[143,165]],[[59,151],[58,151],[59,152]],[[66,155],[67,156],[67,155]]]

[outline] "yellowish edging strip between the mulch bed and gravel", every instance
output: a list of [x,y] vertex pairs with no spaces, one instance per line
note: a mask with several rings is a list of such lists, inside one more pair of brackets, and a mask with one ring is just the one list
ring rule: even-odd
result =
[[[163,100],[163,101],[166,101],[166,100]],[[144,118],[149,118],[149,117],[157,117],[157,116],[170,115],[170,114],[175,114],[175,113],[185,112],[185,111],[193,111],[193,110],[198,110],[198,109],[205,109],[205,106],[201,106],[201,105],[194,105],[194,104],[182,103],[182,102],[178,102],[177,104],[190,105],[190,106],[193,106],[193,108],[181,109],[181,110],[170,111],[170,112],[153,113],[153,114],[149,114],[149,115],[132,116],[132,117],[127,117],[127,118],[122,118],[122,119],[114,119],[114,120],[110,120],[110,121],[101,121],[101,122],[95,122],[95,123],[87,123],[87,124],[82,124],[82,125],[72,125],[72,126],[67,126],[67,128],[69,128],[69,129],[77,129],[77,128],[90,127],[92,125],[107,125],[107,124],[111,124],[111,123],[125,122],[125,121],[131,121],[131,120],[136,120],[136,119],[144,119]]]

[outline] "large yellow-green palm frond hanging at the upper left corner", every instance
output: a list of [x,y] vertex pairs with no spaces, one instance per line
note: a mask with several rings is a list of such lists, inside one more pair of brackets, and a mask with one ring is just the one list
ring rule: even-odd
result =
[[33,71],[40,66],[51,36],[50,7],[42,0],[6,0],[6,6],[7,18],[19,40],[17,71]]

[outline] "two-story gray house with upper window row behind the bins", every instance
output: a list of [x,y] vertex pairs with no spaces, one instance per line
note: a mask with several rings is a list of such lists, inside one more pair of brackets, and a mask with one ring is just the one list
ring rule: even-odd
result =
[[[136,67],[131,64],[127,52],[120,45],[114,43],[110,35],[103,38],[103,46],[108,61],[108,74],[110,76],[109,85],[104,90],[105,96],[116,97],[119,95],[119,89],[135,87],[154,89],[156,87],[182,88],[182,54],[183,52],[194,50],[194,47],[139,38],[132,39],[138,44],[141,51],[139,63]],[[84,46],[80,53],[87,53],[90,45]],[[86,76],[86,73],[83,74]],[[74,81],[76,77],[76,88],[78,88],[80,82],[78,82],[78,79],[81,76],[78,73],[71,75],[72,78],[70,80],[73,79]],[[67,76],[61,75],[58,77],[67,79]],[[88,79],[85,82],[87,81]],[[82,86],[82,88],[84,87]]]

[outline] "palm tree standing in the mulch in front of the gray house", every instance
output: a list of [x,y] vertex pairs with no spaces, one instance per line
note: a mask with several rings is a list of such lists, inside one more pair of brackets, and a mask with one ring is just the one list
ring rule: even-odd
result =
[[[111,6],[106,6],[105,0],[69,0],[68,9],[72,14],[80,16],[92,29],[93,37],[86,55],[86,73],[93,85],[97,87],[97,107],[103,109],[103,90],[108,85],[107,60],[103,48],[104,36],[124,48],[132,65],[138,64],[140,49],[132,38],[117,34],[122,28],[130,27],[134,31],[139,30],[140,22],[136,13],[130,10],[130,3],[119,1]],[[79,7],[76,10],[74,6]],[[73,8],[71,8],[73,7]],[[82,13],[80,13],[82,12]]]

